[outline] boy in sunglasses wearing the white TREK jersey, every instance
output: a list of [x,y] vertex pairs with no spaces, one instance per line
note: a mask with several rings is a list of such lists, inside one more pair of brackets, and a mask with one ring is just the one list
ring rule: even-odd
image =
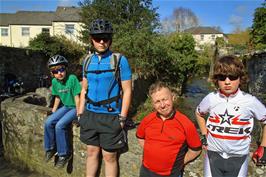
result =
[[203,149],[207,151],[204,176],[247,176],[254,118],[264,128],[252,159],[257,165],[266,164],[266,108],[256,97],[240,90],[247,76],[239,59],[220,58],[214,65],[212,79],[218,90],[208,94],[196,109]]

